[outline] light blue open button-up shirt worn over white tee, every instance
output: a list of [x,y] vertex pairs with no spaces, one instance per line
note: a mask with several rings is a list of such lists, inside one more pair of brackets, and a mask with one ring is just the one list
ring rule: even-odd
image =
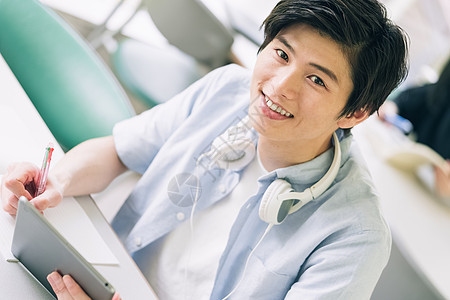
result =
[[[171,101],[116,125],[120,159],[142,174],[112,223],[131,255],[152,247],[189,217],[196,171],[196,211],[223,199],[239,182],[242,170],[206,169],[202,164],[196,170],[196,162],[217,136],[247,115],[249,84],[247,70],[226,66]],[[342,161],[333,184],[269,231],[232,299],[370,298],[388,261],[391,236],[352,135],[339,132]],[[330,149],[259,178],[257,193],[242,206],[231,229],[211,299],[222,299],[234,288],[264,233],[267,224],[258,209],[270,183],[283,178],[302,192],[325,174],[332,156]]]

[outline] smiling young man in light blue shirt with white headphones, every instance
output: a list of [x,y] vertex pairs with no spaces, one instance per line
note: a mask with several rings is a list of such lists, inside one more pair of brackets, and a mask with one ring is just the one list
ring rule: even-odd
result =
[[252,75],[220,68],[82,143],[35,199],[37,167],[12,166],[4,208],[26,195],[43,210],[132,169],[112,225],[161,299],[368,299],[391,240],[349,129],[406,75],[405,36],[371,0],[281,1],[264,30]]

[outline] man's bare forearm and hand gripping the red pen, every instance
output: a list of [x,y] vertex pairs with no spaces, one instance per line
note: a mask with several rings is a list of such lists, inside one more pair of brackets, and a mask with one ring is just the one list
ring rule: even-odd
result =
[[39,168],[30,163],[9,166],[1,184],[3,209],[15,215],[19,197],[25,196],[43,211],[58,205],[64,196],[99,192],[124,171],[126,167],[117,156],[113,137],[88,140],[70,150],[54,166],[45,191],[36,198],[32,195]]

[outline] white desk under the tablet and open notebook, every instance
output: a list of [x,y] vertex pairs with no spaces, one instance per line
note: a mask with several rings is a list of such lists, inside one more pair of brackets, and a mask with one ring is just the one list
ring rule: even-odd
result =
[[[17,143],[14,145],[4,145],[10,147],[6,157],[0,158],[0,173],[3,173],[4,166],[21,157],[23,160],[41,163],[42,149],[49,141],[55,146],[56,140],[48,130],[47,126],[39,116],[38,112],[28,99],[22,87],[16,80],[14,74],[0,55],[0,108],[7,107],[13,109],[22,120],[26,120],[26,127],[33,133],[34,140],[24,141],[17,135]],[[1,134],[16,133],[14,127],[4,128]],[[22,129],[25,130],[25,129]],[[32,146],[30,146],[32,145]],[[63,151],[56,146],[54,161],[63,156]],[[85,210],[94,226],[111,248],[114,255],[119,260],[118,266],[96,266],[96,268],[107,278],[122,296],[122,299],[156,299],[154,293],[141,274],[134,261],[123,248],[116,234],[110,228],[108,222],[103,217],[96,203],[91,197],[78,197],[77,201]],[[0,228],[1,230],[1,228]],[[24,268],[18,263],[7,262],[0,255],[0,298],[1,299],[53,299]]]

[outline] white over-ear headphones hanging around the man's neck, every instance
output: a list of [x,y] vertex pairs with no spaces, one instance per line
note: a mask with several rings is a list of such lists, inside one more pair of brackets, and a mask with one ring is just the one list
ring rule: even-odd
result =
[[[211,150],[204,155],[220,168],[239,170],[245,167],[255,155],[255,145],[247,137],[251,129],[249,117],[242,119],[237,125],[228,128],[217,137]],[[264,193],[259,207],[259,217],[269,224],[280,224],[284,219],[306,203],[319,197],[333,183],[341,164],[341,147],[336,133],[333,133],[334,157],[325,175],[303,192],[294,192],[291,185],[283,180],[273,181]],[[202,155],[203,156],[203,155]]]

